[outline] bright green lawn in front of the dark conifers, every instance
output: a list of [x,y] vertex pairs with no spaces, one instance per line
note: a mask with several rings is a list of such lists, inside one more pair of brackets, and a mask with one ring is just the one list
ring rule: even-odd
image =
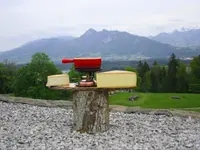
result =
[[[140,97],[132,102],[128,98],[133,95]],[[179,96],[180,99],[171,99]],[[179,93],[116,93],[109,97],[111,105],[139,106],[143,108],[193,108],[200,107],[200,94]]]

